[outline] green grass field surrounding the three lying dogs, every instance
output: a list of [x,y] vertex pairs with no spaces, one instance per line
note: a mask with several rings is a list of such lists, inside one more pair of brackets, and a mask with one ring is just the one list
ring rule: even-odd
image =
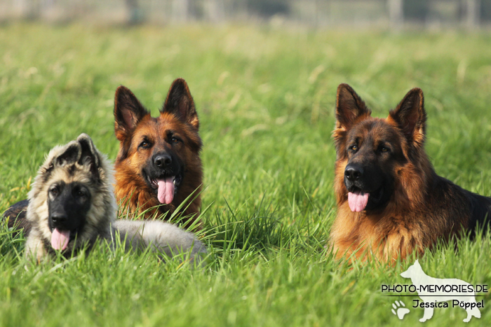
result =
[[[491,35],[298,31],[271,27],[0,27],[0,212],[25,199],[56,144],[88,133],[114,160],[114,90],[156,115],[183,77],[201,120],[205,271],[152,254],[94,251],[27,265],[24,239],[0,237],[0,326],[414,326],[396,267],[336,263],[335,91],[349,83],[386,116],[410,88],[426,95],[426,150],[438,174],[491,195]],[[491,285],[491,242],[420,258],[434,277]],[[478,300],[483,299],[479,298]],[[400,321],[391,303],[411,312]],[[490,326],[490,295],[481,318]],[[491,305],[491,304],[490,304]],[[436,309],[425,326],[464,324]]]

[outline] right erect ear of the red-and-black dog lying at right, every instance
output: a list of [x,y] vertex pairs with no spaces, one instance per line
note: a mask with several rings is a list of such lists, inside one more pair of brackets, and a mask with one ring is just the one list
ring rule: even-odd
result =
[[422,145],[426,132],[423,91],[420,88],[410,90],[396,109],[390,111],[389,118],[397,123],[410,142]]

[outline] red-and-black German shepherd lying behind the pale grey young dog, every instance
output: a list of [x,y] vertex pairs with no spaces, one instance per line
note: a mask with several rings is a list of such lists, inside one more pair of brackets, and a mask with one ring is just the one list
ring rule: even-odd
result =
[[[128,214],[140,211],[145,218],[166,214],[168,219],[189,197],[191,201],[183,204],[180,214],[184,225],[192,225],[201,206],[202,142],[186,81],[178,78],[173,82],[157,118],[121,85],[114,99],[114,130],[120,141],[114,189],[121,207]],[[8,227],[23,228],[25,235],[30,230],[25,219],[28,204],[28,200],[17,202],[4,213]],[[195,226],[201,228],[198,222]]]

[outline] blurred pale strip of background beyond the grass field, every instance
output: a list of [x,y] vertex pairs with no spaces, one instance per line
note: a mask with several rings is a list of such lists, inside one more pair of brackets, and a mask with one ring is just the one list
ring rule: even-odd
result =
[[294,22],[314,27],[489,26],[491,0],[0,0],[0,20],[106,24]]

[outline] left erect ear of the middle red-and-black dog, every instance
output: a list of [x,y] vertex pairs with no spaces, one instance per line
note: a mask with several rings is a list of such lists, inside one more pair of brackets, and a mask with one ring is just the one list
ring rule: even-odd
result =
[[140,104],[140,101],[128,88],[121,85],[116,89],[114,96],[114,132],[119,141],[122,141],[128,132],[132,131],[137,123],[149,111]]

